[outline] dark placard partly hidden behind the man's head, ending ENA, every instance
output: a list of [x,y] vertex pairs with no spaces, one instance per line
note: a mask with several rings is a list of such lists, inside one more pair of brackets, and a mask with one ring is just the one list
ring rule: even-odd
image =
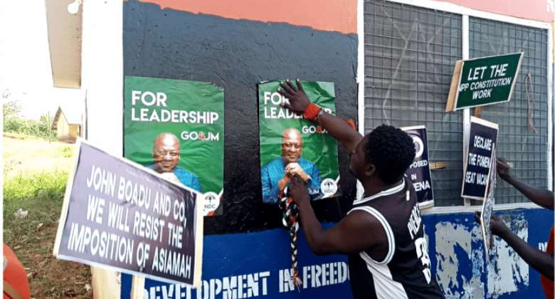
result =
[[432,176],[430,174],[430,157],[428,152],[428,135],[423,125],[401,127],[414,142],[416,154],[414,161],[406,171],[418,197],[418,206],[427,209],[433,206]]

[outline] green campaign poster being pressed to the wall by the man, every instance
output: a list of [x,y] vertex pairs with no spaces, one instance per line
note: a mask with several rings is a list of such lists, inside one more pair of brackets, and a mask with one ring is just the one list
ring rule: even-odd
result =
[[[275,204],[290,176],[300,174],[313,200],[339,195],[337,142],[310,120],[281,107],[288,101],[277,93],[279,80],[258,85],[260,174],[263,202]],[[302,82],[308,98],[335,115],[334,84]]]

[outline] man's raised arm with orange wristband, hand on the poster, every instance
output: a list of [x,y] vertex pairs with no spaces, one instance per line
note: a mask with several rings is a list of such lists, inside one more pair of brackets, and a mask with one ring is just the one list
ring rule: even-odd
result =
[[[314,112],[314,106],[310,107],[310,105],[314,104],[310,103],[305,90],[302,89],[300,80],[297,79],[297,87],[290,80],[287,80],[281,84],[281,88],[277,92],[289,99],[289,103],[285,103],[284,106],[297,115],[305,115],[305,118],[309,119],[307,117],[307,112],[309,111],[307,110]],[[347,124],[347,122],[327,112],[322,111],[311,120],[324,127],[332,137],[341,142],[344,147],[347,147],[349,152],[352,152],[362,140],[362,135]]]

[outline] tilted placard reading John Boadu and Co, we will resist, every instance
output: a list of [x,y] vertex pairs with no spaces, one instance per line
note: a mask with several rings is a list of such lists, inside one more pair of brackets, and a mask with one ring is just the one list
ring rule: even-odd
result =
[[168,283],[201,283],[203,196],[78,141],[54,256]]

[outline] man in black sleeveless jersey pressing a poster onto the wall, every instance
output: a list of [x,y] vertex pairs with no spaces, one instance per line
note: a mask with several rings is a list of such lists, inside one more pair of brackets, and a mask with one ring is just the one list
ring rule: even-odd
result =
[[444,298],[430,271],[416,193],[404,177],[415,154],[411,137],[387,125],[361,136],[347,122],[310,103],[299,80],[297,86],[287,80],[278,92],[289,99],[285,107],[317,122],[347,147],[349,170],[364,187],[364,197],[353,202],[347,216],[324,231],[307,187],[293,178],[290,196],[299,206],[310,249],[349,255],[354,298]]

